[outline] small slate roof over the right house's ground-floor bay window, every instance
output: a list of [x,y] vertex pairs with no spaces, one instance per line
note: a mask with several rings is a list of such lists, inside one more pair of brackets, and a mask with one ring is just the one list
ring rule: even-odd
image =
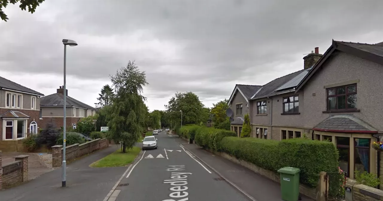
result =
[[375,128],[350,114],[334,115],[314,127],[319,131],[378,132]]

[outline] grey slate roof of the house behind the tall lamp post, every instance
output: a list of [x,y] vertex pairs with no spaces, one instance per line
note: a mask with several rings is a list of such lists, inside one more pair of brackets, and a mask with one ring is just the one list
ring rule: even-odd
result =
[[[64,95],[61,93],[54,93],[48,96],[44,96],[40,98],[40,106],[64,106]],[[79,100],[76,100],[70,96],[67,96],[67,106],[74,106],[79,108],[86,108],[86,109],[94,109],[92,106],[89,106]]]

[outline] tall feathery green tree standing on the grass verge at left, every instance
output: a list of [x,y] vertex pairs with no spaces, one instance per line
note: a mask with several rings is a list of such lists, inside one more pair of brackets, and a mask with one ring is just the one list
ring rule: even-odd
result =
[[149,84],[144,71],[140,71],[134,61],[117,70],[110,76],[115,97],[108,122],[111,138],[122,143],[122,152],[132,148],[141,136],[147,113],[142,96],[143,87]]

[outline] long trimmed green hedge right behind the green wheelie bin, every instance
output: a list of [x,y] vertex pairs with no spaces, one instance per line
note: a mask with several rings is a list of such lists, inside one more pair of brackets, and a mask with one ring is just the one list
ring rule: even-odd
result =
[[300,183],[310,187],[316,187],[319,172],[337,172],[339,166],[339,154],[331,142],[224,137],[221,149],[274,172],[282,167],[300,168]]

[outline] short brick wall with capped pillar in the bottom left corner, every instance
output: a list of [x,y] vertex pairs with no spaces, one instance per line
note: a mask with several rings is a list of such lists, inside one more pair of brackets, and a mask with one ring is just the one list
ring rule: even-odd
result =
[[0,190],[28,181],[28,156],[16,156],[15,162],[2,165],[2,151],[0,151]]

